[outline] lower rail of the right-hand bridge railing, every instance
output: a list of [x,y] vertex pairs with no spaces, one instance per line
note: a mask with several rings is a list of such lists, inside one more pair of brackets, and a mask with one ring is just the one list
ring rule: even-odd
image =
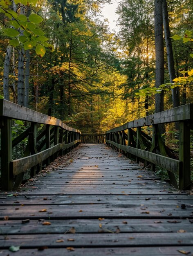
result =
[[141,157],[142,159],[145,159],[153,164],[157,164],[163,168],[166,168],[168,171],[171,171],[177,175],[179,175],[179,171],[182,168],[182,161],[172,159],[169,157],[165,157],[162,155],[157,155],[155,153],[151,153],[151,152],[141,150],[138,148],[132,148],[130,146],[123,146],[123,145],[117,144],[113,141],[107,141],[107,142],[112,143],[117,148],[121,148],[121,150],[131,153],[132,155],[136,155],[137,157]]

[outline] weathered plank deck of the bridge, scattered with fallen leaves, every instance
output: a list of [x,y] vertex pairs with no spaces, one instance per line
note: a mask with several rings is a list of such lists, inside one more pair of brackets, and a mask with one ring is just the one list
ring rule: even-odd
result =
[[106,145],[73,155],[22,191],[0,193],[0,255],[193,255],[193,195]]

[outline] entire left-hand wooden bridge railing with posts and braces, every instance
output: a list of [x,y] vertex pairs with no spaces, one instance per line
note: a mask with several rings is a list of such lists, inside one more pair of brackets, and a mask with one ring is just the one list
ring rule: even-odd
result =
[[[12,140],[13,119],[27,123],[26,130]],[[29,123],[28,123],[29,122]],[[37,134],[37,125],[45,129]],[[10,101],[0,99],[1,128],[1,187],[2,190],[16,189],[25,171],[30,177],[40,171],[42,164],[52,162],[58,154],[65,154],[80,144],[81,132],[67,126],[61,120],[50,117]],[[24,156],[12,160],[13,147],[27,139]],[[13,180],[15,180],[13,186]]]

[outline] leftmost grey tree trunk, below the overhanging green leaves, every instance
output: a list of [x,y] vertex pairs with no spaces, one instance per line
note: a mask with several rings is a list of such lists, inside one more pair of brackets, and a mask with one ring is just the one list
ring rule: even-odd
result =
[[4,99],[9,101],[9,65],[11,60],[11,52],[13,47],[7,46],[6,55],[4,60],[4,72],[3,72],[3,94]]

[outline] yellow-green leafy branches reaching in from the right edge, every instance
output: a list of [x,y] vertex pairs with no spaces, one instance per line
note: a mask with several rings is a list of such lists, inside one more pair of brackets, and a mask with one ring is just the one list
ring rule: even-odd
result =
[[[185,36],[178,36],[174,35],[171,38],[173,40],[183,40],[183,43],[192,42],[192,31],[186,30]],[[190,54],[190,57],[193,58],[193,54]],[[187,83],[193,83],[193,69],[190,71],[179,71],[183,76],[176,77],[173,79],[174,83],[164,83],[159,86],[159,88],[156,87],[148,87],[145,89],[139,90],[139,92],[135,93],[136,97],[145,97],[146,95],[151,96],[152,94],[161,93],[162,90],[164,91],[170,91],[171,89],[174,89],[175,87],[180,87],[181,85],[187,84]]]

